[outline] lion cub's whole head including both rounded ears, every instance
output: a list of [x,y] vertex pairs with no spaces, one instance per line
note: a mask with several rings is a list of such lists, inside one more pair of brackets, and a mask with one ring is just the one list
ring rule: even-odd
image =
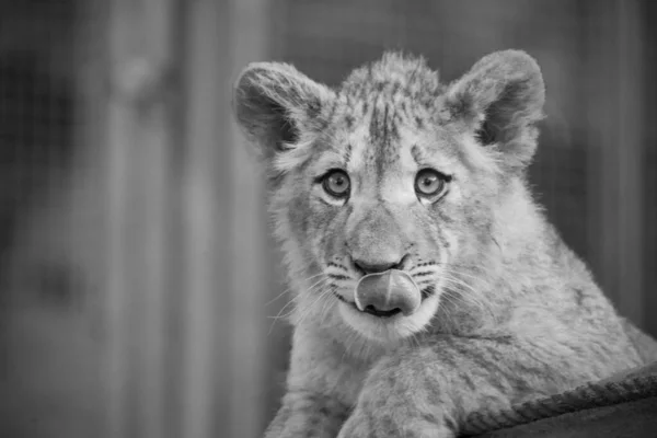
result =
[[474,273],[512,223],[500,211],[523,191],[543,100],[537,62],[516,50],[449,85],[397,54],[337,89],[285,64],[249,66],[234,111],[268,168],[297,318],[389,342],[472,302]]

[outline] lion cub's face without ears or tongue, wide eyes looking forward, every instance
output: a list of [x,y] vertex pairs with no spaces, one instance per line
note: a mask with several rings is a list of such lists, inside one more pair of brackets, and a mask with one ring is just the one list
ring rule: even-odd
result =
[[[342,318],[359,333],[388,339],[427,326],[448,287],[460,286],[453,262],[487,244],[486,198],[497,182],[474,173],[459,153],[472,137],[429,124],[430,115],[406,97],[385,91],[377,97],[343,103],[316,151],[281,191],[290,233],[326,278],[315,293],[338,301]],[[345,117],[355,120],[350,127]],[[359,281],[389,269],[405,273],[412,290],[381,285],[388,300],[357,302]]]

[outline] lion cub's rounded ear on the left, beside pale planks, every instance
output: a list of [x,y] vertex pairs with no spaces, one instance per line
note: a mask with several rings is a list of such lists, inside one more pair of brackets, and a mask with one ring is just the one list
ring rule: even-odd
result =
[[280,62],[251,64],[233,91],[235,118],[267,161],[304,146],[307,137],[321,126],[322,108],[335,95],[330,88]]

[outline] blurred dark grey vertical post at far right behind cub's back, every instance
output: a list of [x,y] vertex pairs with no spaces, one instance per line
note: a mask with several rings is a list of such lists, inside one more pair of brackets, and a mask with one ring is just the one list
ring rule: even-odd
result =
[[642,38],[637,0],[587,7],[590,254],[621,314],[643,324]]

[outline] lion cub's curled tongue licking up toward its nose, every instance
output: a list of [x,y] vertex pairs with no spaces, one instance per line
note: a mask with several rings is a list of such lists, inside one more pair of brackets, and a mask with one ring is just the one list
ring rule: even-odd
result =
[[408,274],[390,269],[362,277],[356,286],[355,300],[360,311],[371,306],[378,311],[400,309],[410,315],[419,308],[422,295]]

